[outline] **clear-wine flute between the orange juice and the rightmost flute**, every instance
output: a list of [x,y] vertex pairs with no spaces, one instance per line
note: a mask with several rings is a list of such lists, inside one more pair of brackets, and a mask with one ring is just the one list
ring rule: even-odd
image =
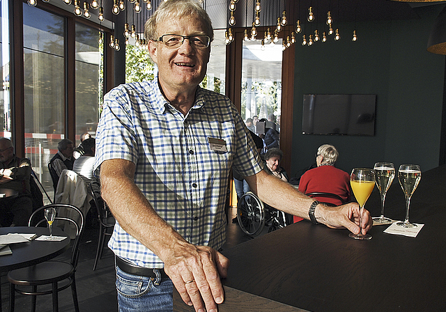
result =
[[395,177],[395,167],[391,162],[377,162],[374,166],[376,186],[381,195],[381,215],[374,217],[374,224],[391,224],[392,220],[384,217],[385,194]]

